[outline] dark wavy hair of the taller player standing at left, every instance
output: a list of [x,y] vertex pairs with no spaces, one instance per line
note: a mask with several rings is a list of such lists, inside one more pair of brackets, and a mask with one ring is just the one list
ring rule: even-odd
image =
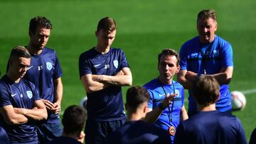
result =
[[50,23],[50,21],[43,16],[36,16],[35,18],[32,18],[30,23],[29,23],[29,31],[32,33],[36,33],[37,28],[47,28],[47,29],[52,29],[53,26]]

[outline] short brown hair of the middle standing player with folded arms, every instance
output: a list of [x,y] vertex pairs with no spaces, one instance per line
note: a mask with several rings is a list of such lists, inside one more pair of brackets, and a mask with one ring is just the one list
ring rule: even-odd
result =
[[97,31],[103,30],[103,31],[112,32],[116,29],[117,29],[117,24],[115,23],[114,19],[110,17],[102,18],[97,25]]

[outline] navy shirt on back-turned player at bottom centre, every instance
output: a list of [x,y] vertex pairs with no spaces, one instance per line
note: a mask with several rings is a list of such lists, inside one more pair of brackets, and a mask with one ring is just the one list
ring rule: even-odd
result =
[[105,144],[171,143],[169,133],[145,121],[127,121],[105,139]]

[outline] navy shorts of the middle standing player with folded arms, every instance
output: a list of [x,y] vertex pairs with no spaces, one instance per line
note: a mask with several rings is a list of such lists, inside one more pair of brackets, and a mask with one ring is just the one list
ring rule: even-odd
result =
[[87,120],[85,124],[85,143],[86,144],[100,144],[107,137],[108,134],[116,131],[125,123],[125,119],[117,121],[90,121]]

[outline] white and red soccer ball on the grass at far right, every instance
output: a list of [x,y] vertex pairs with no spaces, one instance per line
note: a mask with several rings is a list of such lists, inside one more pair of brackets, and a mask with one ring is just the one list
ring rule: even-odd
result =
[[239,111],[245,109],[246,99],[242,92],[233,91],[232,94],[232,110]]

